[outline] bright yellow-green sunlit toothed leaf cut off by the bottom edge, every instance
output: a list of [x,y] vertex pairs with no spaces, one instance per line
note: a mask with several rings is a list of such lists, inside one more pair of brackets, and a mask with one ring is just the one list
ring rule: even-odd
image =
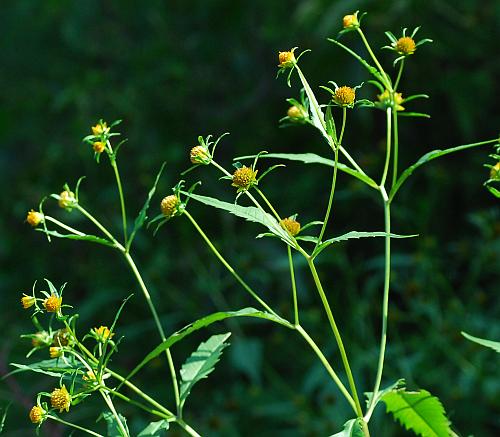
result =
[[450,422],[440,400],[427,390],[391,390],[382,397],[387,412],[407,430],[422,437],[449,437]]

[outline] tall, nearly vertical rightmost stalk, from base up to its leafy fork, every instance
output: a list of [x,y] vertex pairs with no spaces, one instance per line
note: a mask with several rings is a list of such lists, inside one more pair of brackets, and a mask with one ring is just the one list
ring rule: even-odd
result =
[[384,231],[385,236],[385,268],[384,268],[384,296],[382,301],[382,333],[380,337],[380,353],[377,366],[377,376],[375,377],[375,386],[373,388],[372,402],[368,408],[368,414],[371,414],[373,408],[375,407],[374,400],[377,398],[377,394],[380,389],[380,383],[382,381],[382,372],[384,370],[384,358],[385,349],[387,344],[387,319],[389,315],[389,285],[391,280],[391,238],[389,233],[391,232],[391,211],[390,203],[387,197],[387,193],[384,187],[380,187],[380,194],[384,201]]

